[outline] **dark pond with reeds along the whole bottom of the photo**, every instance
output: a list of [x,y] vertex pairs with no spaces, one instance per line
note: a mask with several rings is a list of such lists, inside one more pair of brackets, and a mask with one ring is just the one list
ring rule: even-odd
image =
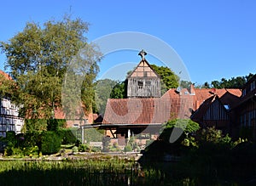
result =
[[[136,161],[0,161],[0,185],[254,185],[253,178],[218,177],[219,170],[181,169],[175,163]],[[194,171],[193,171],[194,170]],[[224,172],[226,170],[223,170]],[[230,170],[231,171],[231,170]],[[207,172],[207,173],[206,173]]]

